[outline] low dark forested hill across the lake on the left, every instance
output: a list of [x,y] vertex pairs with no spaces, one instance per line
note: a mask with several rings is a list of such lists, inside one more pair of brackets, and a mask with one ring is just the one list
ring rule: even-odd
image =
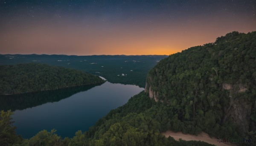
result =
[[0,94],[54,90],[103,82],[93,74],[46,64],[0,66]]

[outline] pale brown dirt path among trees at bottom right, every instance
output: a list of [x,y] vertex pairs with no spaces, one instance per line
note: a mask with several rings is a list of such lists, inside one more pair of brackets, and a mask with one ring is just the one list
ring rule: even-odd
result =
[[181,132],[172,132],[172,131],[167,131],[167,132],[163,132],[162,135],[164,135],[165,137],[173,137],[175,140],[179,140],[179,139],[182,139],[182,140],[186,140],[186,141],[189,141],[189,140],[196,140],[196,141],[204,141],[204,142],[207,142],[207,143],[210,143],[210,144],[214,144],[216,146],[236,146],[236,145],[233,145],[231,143],[219,143],[217,141],[217,138],[214,138],[214,137],[209,137],[209,135],[205,132],[202,132],[200,133],[198,136],[196,135],[189,135],[189,134],[183,134]]

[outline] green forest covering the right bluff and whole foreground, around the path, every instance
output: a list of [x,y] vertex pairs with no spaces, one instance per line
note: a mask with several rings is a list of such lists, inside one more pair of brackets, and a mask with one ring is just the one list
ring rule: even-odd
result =
[[148,72],[145,92],[111,110],[88,131],[77,131],[72,138],[58,136],[52,129],[23,139],[12,126],[12,112],[1,111],[0,145],[212,146],[161,135],[172,130],[246,138],[251,142],[235,144],[255,146],[255,69],[256,31],[234,31],[218,37],[214,43],[161,60]]

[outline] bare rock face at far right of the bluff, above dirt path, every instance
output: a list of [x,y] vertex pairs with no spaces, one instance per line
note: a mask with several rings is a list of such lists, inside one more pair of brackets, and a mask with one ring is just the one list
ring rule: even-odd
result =
[[238,94],[247,91],[247,88],[242,84],[231,85],[227,83],[224,83],[222,87],[230,93],[230,106],[225,111],[224,122],[231,121],[239,126],[241,132],[248,132],[253,104],[242,94]]

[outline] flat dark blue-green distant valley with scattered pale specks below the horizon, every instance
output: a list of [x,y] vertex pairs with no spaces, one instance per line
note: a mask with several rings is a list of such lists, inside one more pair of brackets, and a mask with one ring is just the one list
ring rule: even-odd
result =
[[0,65],[41,63],[105,77],[111,83],[145,87],[146,75],[166,55],[38,55],[0,54]]

